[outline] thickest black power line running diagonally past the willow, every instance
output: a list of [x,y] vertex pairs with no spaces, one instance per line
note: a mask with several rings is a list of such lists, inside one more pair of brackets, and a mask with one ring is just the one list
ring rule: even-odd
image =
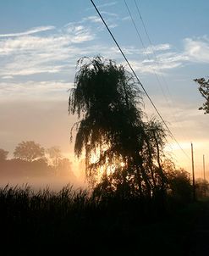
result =
[[[157,110],[156,105],[153,103],[153,101],[151,100],[151,97],[150,97],[149,94],[146,92],[146,88],[145,88],[145,87],[143,86],[143,84],[140,82],[140,79],[139,79],[139,77],[136,75],[135,70],[132,68],[131,64],[129,64],[128,58],[126,58],[126,56],[125,56],[123,50],[122,50],[121,47],[118,45],[118,42],[116,41],[115,37],[113,36],[113,33],[112,33],[112,32],[110,31],[110,29],[108,28],[107,23],[105,22],[105,20],[104,20],[103,17],[102,17],[102,14],[101,14],[100,11],[98,10],[98,8],[96,8],[96,5],[95,5],[95,3],[93,2],[93,0],[91,0],[91,3],[93,4],[94,8],[96,9],[97,14],[98,14],[98,15],[100,16],[100,18],[102,19],[102,22],[103,22],[103,24],[106,26],[107,31],[109,32],[110,36],[112,36],[113,41],[114,41],[115,44],[117,45],[117,47],[118,47],[120,53],[123,55],[125,61],[126,61],[127,64],[129,65],[129,69],[133,72],[133,74],[135,75],[136,80],[139,82],[139,84],[140,84],[142,90],[145,92],[146,97],[148,97],[149,101],[151,102],[152,107],[156,110],[158,116],[159,116],[160,119],[162,120],[162,123],[166,126],[167,130],[169,131],[170,136],[173,137],[173,140],[178,144],[179,148],[184,152],[184,149],[179,145],[179,142],[177,142],[176,138],[173,136],[172,131],[170,131],[168,125],[167,125],[166,122],[165,122],[165,120],[163,120],[162,115],[161,115],[160,112]],[[190,157],[187,155],[187,153],[184,152],[184,154],[190,159]]]

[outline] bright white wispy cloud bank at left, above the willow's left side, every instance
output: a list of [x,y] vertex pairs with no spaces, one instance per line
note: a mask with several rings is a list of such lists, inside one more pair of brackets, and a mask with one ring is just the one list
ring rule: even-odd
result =
[[91,28],[69,24],[49,35],[25,35],[0,40],[3,79],[15,75],[56,74],[85,53],[81,43],[94,39]]

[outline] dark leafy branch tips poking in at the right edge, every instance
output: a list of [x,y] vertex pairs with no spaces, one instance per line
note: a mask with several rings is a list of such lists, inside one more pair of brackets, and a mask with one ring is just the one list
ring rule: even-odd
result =
[[201,92],[201,96],[206,99],[206,102],[202,104],[199,110],[204,110],[204,114],[209,114],[209,80],[198,78],[194,81],[199,84],[199,92]]

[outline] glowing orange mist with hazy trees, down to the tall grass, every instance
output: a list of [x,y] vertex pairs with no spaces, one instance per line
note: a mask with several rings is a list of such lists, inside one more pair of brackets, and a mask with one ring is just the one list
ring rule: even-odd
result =
[[80,164],[80,171],[77,169],[59,147],[46,149],[36,142],[20,142],[11,159],[8,151],[0,149],[1,187],[30,186],[36,191],[45,188],[59,191],[67,185],[84,188],[87,186],[84,166]]

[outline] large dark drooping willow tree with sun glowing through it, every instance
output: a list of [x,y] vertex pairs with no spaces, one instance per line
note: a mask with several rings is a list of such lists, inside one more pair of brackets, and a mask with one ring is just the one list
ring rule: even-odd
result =
[[135,181],[135,190],[151,197],[158,180],[163,180],[162,173],[152,168],[153,147],[160,145],[159,129],[152,127],[151,131],[142,121],[141,92],[133,76],[123,65],[98,56],[80,58],[78,66],[69,114],[79,117],[74,153],[77,157],[85,153],[86,176],[92,179],[101,170],[105,175],[126,170],[126,180]]

